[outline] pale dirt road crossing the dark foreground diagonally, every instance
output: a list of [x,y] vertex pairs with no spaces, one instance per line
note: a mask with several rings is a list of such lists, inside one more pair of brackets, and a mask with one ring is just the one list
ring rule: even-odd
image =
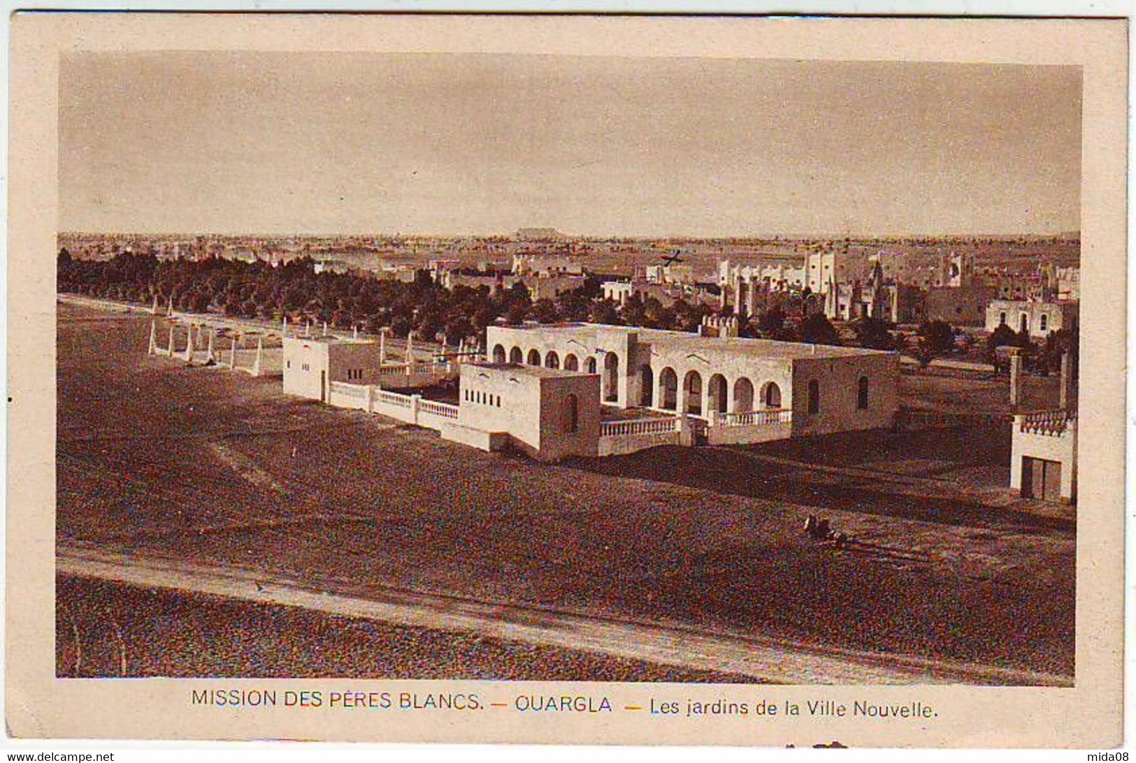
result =
[[385,595],[365,600],[334,590],[312,590],[301,581],[259,571],[124,556],[91,548],[60,548],[57,571],[137,587],[283,604],[386,624],[471,631],[495,639],[579,649],[687,671],[726,671],[760,682],[1035,686],[1068,682],[1060,676],[1030,671],[895,654],[807,648],[774,638],[588,618],[546,607],[474,602],[408,590],[387,589]]

